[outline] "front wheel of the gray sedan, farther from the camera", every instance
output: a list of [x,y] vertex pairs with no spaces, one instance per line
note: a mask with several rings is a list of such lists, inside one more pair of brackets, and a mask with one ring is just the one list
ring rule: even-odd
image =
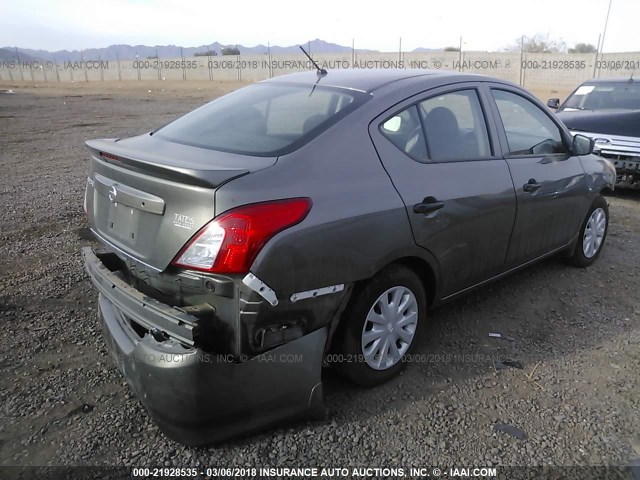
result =
[[584,268],[595,262],[602,251],[608,230],[609,205],[604,197],[598,195],[582,222],[569,263]]

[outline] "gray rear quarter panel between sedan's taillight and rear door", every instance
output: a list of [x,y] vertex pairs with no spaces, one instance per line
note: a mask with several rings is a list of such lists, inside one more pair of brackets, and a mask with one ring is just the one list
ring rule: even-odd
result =
[[400,256],[423,254],[382,168],[360,110],[267,170],[216,192],[216,214],[239,205],[309,197],[307,218],[262,249],[251,271],[278,296],[351,283]]

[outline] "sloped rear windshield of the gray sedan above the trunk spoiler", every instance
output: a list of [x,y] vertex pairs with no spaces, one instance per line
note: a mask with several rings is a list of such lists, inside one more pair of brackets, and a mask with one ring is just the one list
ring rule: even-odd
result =
[[161,128],[172,142],[257,156],[289,153],[355,110],[369,95],[264,83],[225,95]]

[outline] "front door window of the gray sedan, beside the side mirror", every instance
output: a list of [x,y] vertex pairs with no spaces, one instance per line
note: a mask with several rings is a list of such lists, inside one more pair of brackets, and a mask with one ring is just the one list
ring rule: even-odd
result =
[[492,89],[509,144],[509,155],[567,153],[558,126],[530,100]]

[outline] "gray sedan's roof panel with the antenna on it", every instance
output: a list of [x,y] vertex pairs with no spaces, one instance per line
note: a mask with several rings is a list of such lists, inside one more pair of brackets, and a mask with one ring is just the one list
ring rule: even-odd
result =
[[[329,70],[326,75],[319,76],[316,72],[300,72],[282,75],[261,83],[295,83],[302,85],[323,85],[338,88],[347,88],[371,93],[390,83],[409,78],[423,77],[428,79],[443,79],[446,77],[468,77],[469,81],[484,79],[483,75],[461,74],[448,70],[418,70],[418,69],[337,69]],[[320,78],[320,81],[318,81]]]

